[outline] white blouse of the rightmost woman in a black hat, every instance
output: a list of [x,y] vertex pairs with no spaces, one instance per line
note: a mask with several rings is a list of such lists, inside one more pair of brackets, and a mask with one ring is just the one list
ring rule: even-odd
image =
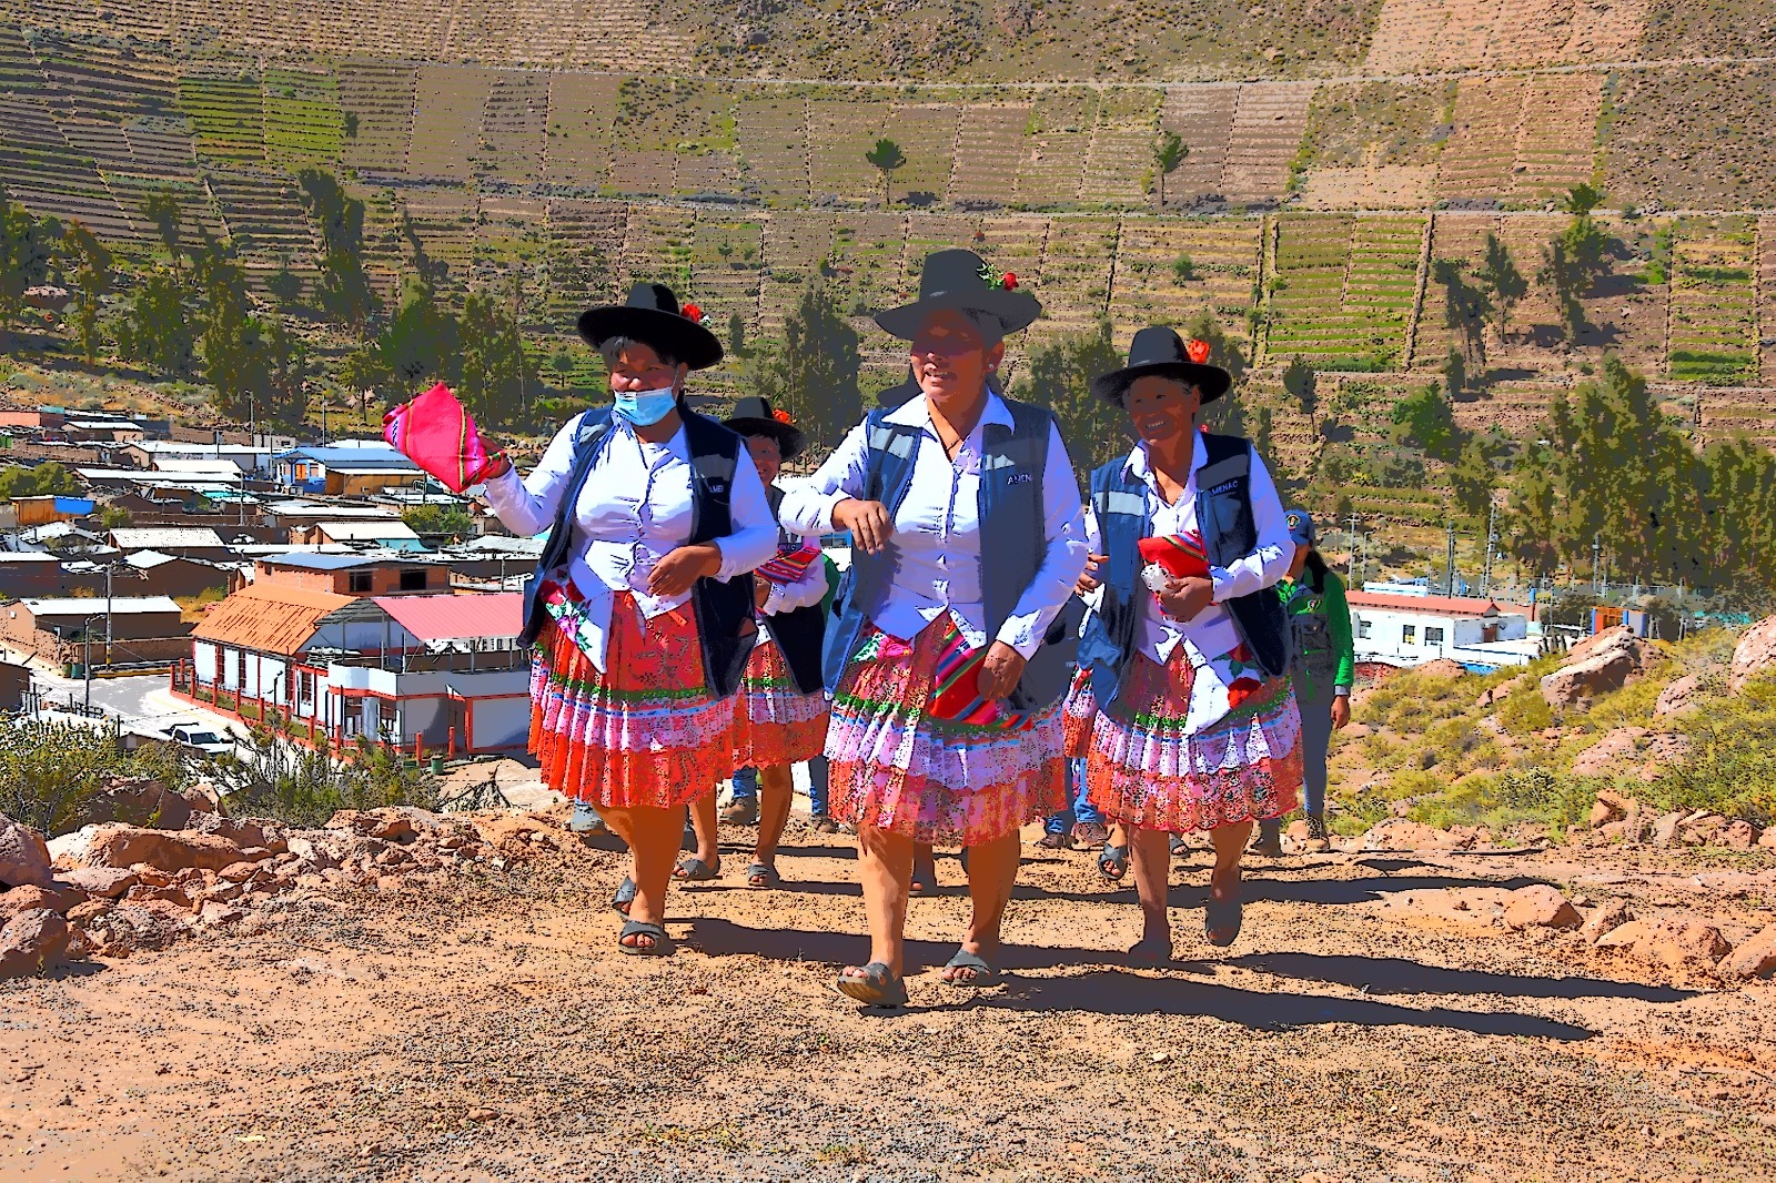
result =
[[[1185,490],[1176,503],[1165,504],[1165,497],[1160,496],[1160,481],[1147,457],[1147,446],[1135,444],[1135,449],[1128,453],[1122,471],[1147,488],[1153,536],[1197,533],[1197,471],[1204,464],[1208,464],[1208,448],[1202,446],[1202,435],[1197,433]],[[1222,604],[1268,588],[1289,572],[1289,563],[1295,560],[1295,542],[1289,538],[1289,524],[1282,512],[1282,501],[1277,496],[1277,485],[1272,481],[1270,469],[1265,467],[1256,449],[1252,451],[1250,496],[1252,524],[1257,528],[1257,549],[1227,567],[1209,567],[1215,599],[1208,607],[1192,620],[1172,620],[1160,609],[1158,599],[1146,586],[1137,584],[1137,595],[1140,597],[1137,641],[1140,652],[1158,664],[1163,666],[1170,661],[1172,650],[1185,639],[1197,648],[1197,654],[1192,655],[1195,664],[1233,652],[1240,643],[1240,634],[1234,631],[1233,613],[1222,607]],[[1098,515],[1090,510],[1087,510],[1085,531],[1092,554],[1103,554],[1103,533],[1098,528]]]

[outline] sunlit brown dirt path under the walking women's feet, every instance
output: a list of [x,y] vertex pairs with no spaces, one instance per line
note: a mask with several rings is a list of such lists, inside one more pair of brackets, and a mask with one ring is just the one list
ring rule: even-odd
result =
[[[865,941],[851,854],[817,842],[792,835],[789,890],[728,854],[677,893],[670,961],[614,952],[618,860],[570,851],[7,982],[0,1178],[1771,1178],[1776,988],[1693,989],[1488,913],[1547,879],[1749,929],[1767,860],[1259,860],[1220,952],[1197,854],[1183,961],[1130,970],[1133,892],[1027,847],[1011,984],[927,970],[879,1016],[826,989]],[[966,909],[952,860],[940,879],[909,924],[929,965]]]

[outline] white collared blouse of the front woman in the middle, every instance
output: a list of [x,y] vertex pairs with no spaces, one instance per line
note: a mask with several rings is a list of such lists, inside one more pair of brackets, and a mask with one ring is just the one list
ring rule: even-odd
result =
[[[980,584],[980,462],[989,423],[1011,428],[1011,410],[998,394],[987,394],[980,423],[950,460],[931,421],[924,398],[913,398],[888,414],[888,423],[918,428],[924,435],[913,453],[913,480],[893,515],[886,556],[893,583],[872,623],[902,641],[950,613],[955,627],[975,648],[987,645],[987,622]],[[833,506],[863,497],[868,480],[868,426],[851,428],[821,471],[792,488],[778,506],[783,526],[801,535],[833,529]],[[1005,641],[1025,657],[1043,645],[1050,622],[1073,595],[1085,570],[1085,533],[1080,487],[1060,432],[1048,441],[1043,472],[1043,563],[993,639]]]

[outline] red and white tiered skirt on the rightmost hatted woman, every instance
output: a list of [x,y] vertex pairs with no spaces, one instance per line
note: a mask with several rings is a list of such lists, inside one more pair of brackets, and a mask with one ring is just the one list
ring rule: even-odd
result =
[[1288,814],[1302,789],[1302,716],[1289,679],[1261,682],[1192,732],[1195,679],[1215,671],[1193,666],[1186,650],[1179,645],[1163,666],[1135,657],[1115,702],[1096,711],[1087,798],[1112,821],[1170,833]]

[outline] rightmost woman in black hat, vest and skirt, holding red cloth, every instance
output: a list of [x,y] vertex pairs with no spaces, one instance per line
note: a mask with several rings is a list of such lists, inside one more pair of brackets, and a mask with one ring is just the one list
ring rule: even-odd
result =
[[1231,385],[1167,327],[1135,334],[1128,366],[1092,384],[1128,410],[1138,441],[1092,472],[1092,552],[1103,600],[1080,641],[1096,700],[1092,805],[1130,835],[1142,938],[1172,954],[1169,835],[1215,846],[1206,933],[1240,934],[1240,856],[1252,822],[1295,808],[1302,719],[1289,689],[1289,627],[1272,590],[1295,547],[1265,462],[1231,435],[1197,432]]

